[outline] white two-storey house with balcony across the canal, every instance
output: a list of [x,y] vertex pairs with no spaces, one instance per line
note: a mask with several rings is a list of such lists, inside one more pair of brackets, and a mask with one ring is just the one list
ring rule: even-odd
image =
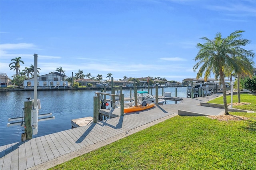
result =
[[[68,86],[68,81],[65,81],[65,77],[67,77],[64,74],[54,72],[49,73],[45,75],[40,75],[37,77],[37,86],[42,87],[59,87],[59,86]],[[24,88],[26,87],[34,87],[34,78],[26,79],[24,81]]]

